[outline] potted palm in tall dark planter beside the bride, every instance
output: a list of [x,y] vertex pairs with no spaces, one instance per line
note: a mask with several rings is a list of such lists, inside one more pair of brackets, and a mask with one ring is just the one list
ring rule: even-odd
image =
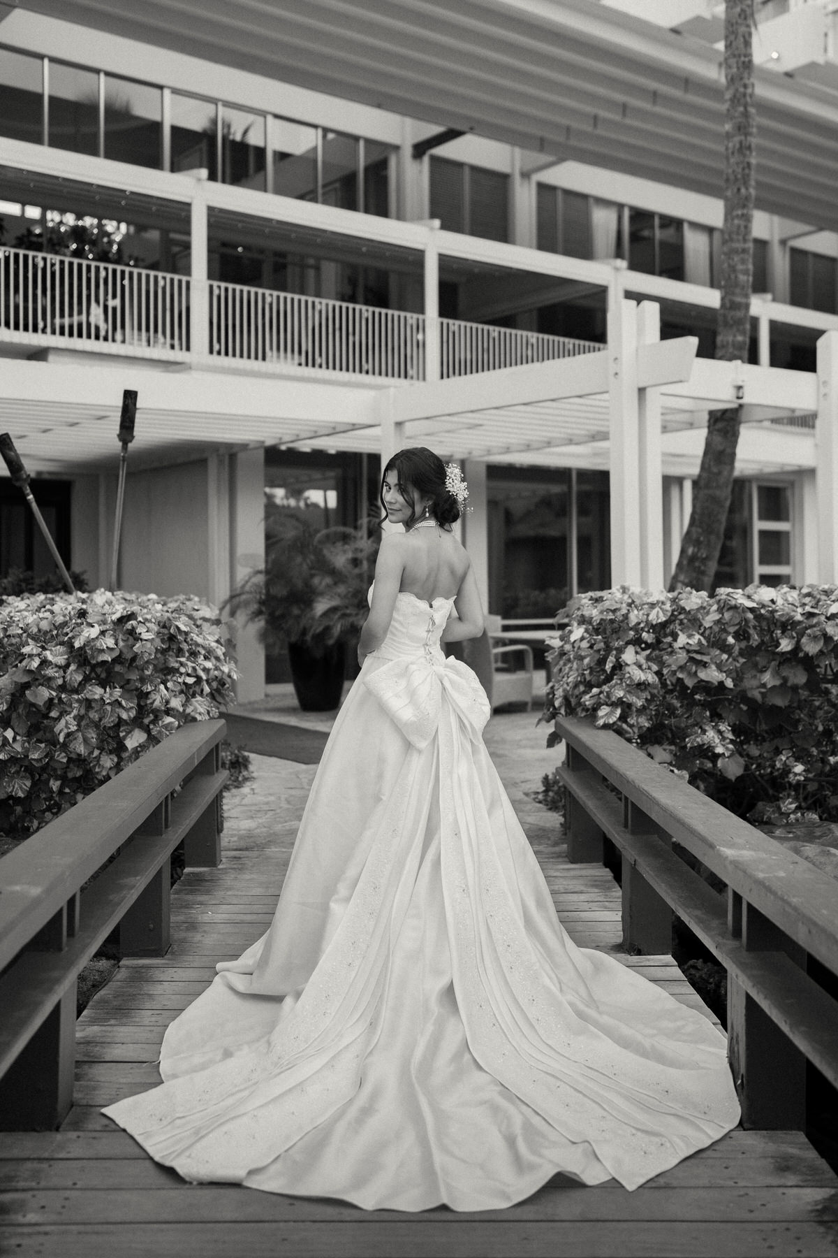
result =
[[286,648],[297,701],[304,712],[340,702],[347,644],[367,613],[378,540],[364,528],[319,530],[293,508],[266,521],[265,566],[227,600],[259,625],[266,647]]

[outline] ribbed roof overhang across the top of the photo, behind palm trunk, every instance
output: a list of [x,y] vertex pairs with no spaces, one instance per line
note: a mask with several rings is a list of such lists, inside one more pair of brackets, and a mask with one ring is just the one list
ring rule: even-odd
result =
[[[721,54],[593,0],[18,0],[75,25],[720,196]],[[756,68],[758,205],[838,228],[838,97]]]

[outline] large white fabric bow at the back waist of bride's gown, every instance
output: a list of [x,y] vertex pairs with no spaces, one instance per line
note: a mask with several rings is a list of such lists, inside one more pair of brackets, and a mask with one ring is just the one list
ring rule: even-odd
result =
[[362,674],[405,737],[420,751],[440,726],[442,696],[462,721],[467,735],[479,738],[491,716],[486,692],[459,659],[388,659]]

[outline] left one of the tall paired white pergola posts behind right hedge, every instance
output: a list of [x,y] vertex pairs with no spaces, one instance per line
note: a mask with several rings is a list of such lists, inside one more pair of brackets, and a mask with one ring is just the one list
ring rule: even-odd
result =
[[637,302],[608,312],[611,581],[642,585]]

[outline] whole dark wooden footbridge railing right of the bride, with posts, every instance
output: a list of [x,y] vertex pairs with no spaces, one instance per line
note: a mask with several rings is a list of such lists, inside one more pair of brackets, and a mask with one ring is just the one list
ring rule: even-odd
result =
[[[623,944],[670,952],[673,912],[727,970],[743,1123],[805,1127],[805,1063],[838,1087],[838,881],[616,733],[560,718],[568,858],[622,857]],[[726,884],[714,891],[681,855]]]

